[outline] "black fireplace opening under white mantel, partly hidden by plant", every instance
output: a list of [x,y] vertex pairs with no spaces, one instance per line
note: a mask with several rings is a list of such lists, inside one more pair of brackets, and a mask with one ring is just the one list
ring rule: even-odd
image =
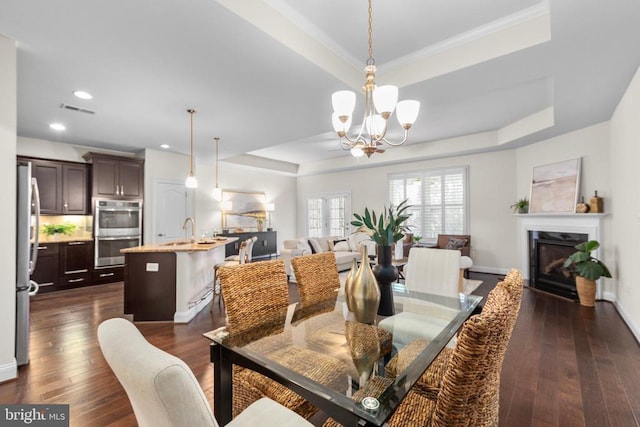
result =
[[575,278],[564,262],[588,238],[584,233],[529,231],[529,286],[577,299]]

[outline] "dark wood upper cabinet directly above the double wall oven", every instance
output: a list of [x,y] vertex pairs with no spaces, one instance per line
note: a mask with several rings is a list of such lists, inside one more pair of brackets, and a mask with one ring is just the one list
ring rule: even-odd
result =
[[143,160],[98,153],[87,153],[84,158],[93,163],[93,197],[125,200],[143,198]]

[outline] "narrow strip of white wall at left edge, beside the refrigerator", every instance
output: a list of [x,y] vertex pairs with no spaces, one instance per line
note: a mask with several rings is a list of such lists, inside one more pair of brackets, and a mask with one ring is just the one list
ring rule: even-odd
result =
[[[0,35],[0,200],[16,200],[16,43]],[[2,224],[16,223],[15,208],[0,209]],[[0,382],[17,375],[16,329],[16,230],[5,227],[0,241]]]

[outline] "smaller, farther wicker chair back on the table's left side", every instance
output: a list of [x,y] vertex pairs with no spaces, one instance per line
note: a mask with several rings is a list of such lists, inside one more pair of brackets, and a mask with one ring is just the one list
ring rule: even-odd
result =
[[291,259],[291,266],[303,305],[335,299],[340,290],[340,277],[336,257],[332,252],[294,257]]

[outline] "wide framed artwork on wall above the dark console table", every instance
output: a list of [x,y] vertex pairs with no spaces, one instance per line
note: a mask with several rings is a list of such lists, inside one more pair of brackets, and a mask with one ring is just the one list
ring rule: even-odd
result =
[[266,196],[258,192],[222,191],[224,228],[230,230],[262,229],[266,213]]

